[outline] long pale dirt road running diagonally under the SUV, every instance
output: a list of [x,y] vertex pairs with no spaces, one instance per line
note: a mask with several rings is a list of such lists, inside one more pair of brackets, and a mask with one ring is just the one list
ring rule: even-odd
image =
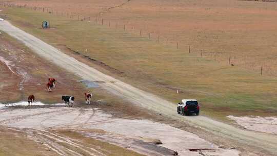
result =
[[80,76],[82,79],[95,82],[105,82],[98,85],[111,93],[132,102],[133,104],[161,112],[171,117],[176,117],[180,120],[199,126],[216,135],[222,136],[223,138],[233,139],[243,144],[263,148],[272,154],[277,154],[276,135],[246,131],[228,124],[214,121],[201,115],[184,116],[181,118],[180,115],[177,115],[176,113],[175,104],[116,80],[111,76],[103,74],[100,71],[75,60],[73,57],[64,54],[60,50],[50,46],[38,38],[12,26],[7,21],[0,21],[0,29],[17,38],[18,41],[23,42],[27,47],[32,49],[38,55],[44,57],[46,60],[65,68],[66,70]]

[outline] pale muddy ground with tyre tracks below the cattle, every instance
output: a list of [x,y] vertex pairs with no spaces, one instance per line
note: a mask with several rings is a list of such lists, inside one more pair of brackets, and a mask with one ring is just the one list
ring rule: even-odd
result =
[[142,119],[114,118],[97,108],[70,108],[58,104],[33,106],[29,109],[17,106],[16,109],[6,108],[0,111],[1,119],[5,119],[0,121],[1,125],[23,129],[31,140],[42,142],[65,155],[74,155],[73,152],[68,152],[70,146],[76,147],[77,150],[74,151],[80,154],[82,151],[93,155],[93,152],[86,150],[87,146],[83,147],[72,138],[65,137],[67,133],[61,131],[77,132],[83,137],[109,142],[146,155],[173,155],[174,151],[180,155],[240,153],[234,149],[219,148],[193,133],[172,126]]

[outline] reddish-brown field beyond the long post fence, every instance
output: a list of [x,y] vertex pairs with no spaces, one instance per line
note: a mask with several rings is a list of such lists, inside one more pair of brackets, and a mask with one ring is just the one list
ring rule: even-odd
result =
[[62,3],[50,1],[12,1],[17,5],[28,5],[74,18],[85,17],[94,23],[118,29],[133,31],[148,36],[151,32],[153,41],[169,44],[187,52],[204,52],[205,57],[217,54],[217,61],[259,72],[263,66],[265,72],[277,75],[275,49],[277,43],[277,4],[255,1],[70,1]]

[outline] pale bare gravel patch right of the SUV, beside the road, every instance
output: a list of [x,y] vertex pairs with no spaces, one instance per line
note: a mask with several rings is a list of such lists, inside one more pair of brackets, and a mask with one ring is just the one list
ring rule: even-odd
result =
[[234,120],[238,125],[246,129],[277,134],[277,117],[261,117],[261,116],[233,116],[227,118]]

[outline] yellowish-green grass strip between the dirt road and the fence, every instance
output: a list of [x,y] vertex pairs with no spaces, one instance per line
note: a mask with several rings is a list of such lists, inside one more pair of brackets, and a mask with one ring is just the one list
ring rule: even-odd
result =
[[[199,99],[203,114],[218,119],[228,114],[277,115],[273,76],[227,66],[107,26],[25,9],[3,13],[14,25],[54,46],[65,45],[123,71],[124,77],[117,79],[174,103]],[[49,20],[53,28],[41,29],[43,20]]]

